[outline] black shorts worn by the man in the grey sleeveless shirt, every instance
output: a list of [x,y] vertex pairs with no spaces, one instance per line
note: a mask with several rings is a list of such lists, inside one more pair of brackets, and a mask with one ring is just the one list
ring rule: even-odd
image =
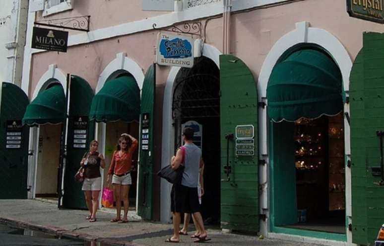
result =
[[197,187],[174,184],[171,191],[171,211],[178,213],[200,212]]

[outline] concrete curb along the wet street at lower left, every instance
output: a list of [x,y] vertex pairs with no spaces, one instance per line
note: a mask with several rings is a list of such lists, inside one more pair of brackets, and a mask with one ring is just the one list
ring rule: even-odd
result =
[[116,246],[139,246],[134,244],[133,242],[123,242],[118,239],[109,239],[109,238],[100,238],[100,237],[95,237],[89,234],[85,233],[77,233],[73,231],[66,230],[64,228],[60,227],[55,227],[55,226],[43,226],[39,224],[33,224],[25,221],[20,221],[12,218],[4,218],[0,217],[0,223],[8,224],[11,226],[19,227],[19,228],[24,228],[24,229],[30,229],[30,230],[35,230],[35,231],[41,231],[45,233],[50,233],[50,234],[56,234],[72,239],[81,239],[85,241],[96,241],[96,242],[102,242],[106,244],[111,244],[111,245],[116,245]]

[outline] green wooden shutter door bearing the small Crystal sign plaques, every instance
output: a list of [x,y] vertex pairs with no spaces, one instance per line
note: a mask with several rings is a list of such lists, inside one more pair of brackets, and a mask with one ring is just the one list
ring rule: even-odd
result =
[[[232,55],[220,56],[220,125],[221,125],[221,226],[224,229],[257,232],[258,220],[258,148],[257,89],[254,77],[243,61]],[[237,125],[253,125],[255,155],[235,156],[235,138],[229,143],[227,134],[235,134]]]

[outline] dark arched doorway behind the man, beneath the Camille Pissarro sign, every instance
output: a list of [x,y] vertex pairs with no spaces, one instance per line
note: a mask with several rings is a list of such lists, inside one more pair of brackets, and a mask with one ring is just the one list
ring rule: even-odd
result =
[[194,143],[205,163],[202,216],[204,224],[220,224],[220,72],[206,58],[195,58],[191,69],[182,68],[174,83],[172,118],[175,147],[182,143],[182,128],[192,126]]

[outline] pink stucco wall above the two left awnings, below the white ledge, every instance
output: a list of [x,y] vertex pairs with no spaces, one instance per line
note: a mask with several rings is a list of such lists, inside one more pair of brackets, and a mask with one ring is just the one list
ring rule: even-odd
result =
[[151,31],[68,47],[66,53],[35,54],[29,95],[33,94],[36,84],[50,64],[57,64],[64,73],[80,76],[89,82],[93,89],[96,88],[99,76],[106,66],[121,52],[126,52],[129,59],[135,61],[145,73],[156,59],[154,52],[156,39],[157,33]]

